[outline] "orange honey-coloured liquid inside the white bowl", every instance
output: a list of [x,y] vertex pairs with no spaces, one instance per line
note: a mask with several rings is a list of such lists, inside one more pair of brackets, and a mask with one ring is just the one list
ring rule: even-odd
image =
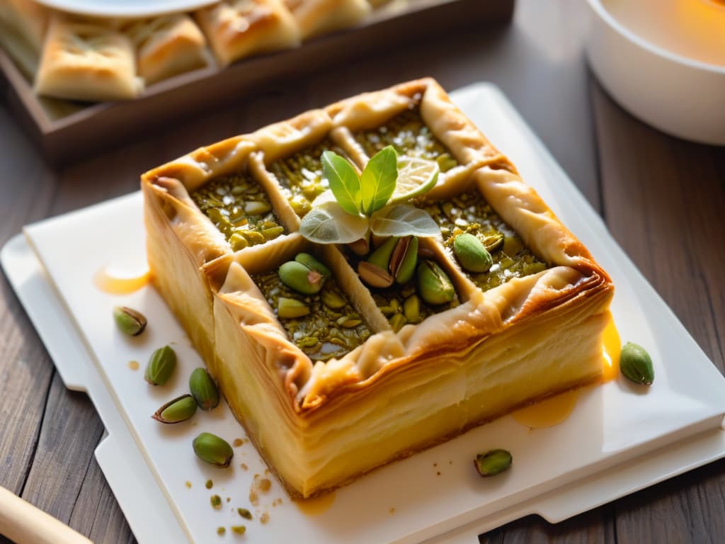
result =
[[671,54],[725,67],[724,0],[604,0],[632,33]]

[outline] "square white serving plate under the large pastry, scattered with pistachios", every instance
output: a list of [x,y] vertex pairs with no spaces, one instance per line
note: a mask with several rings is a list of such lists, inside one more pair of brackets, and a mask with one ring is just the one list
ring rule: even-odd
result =
[[[8,242],[2,264],[65,384],[88,392],[107,427],[96,457],[139,542],[203,543],[218,538],[217,527],[233,540],[229,527],[244,524],[250,541],[260,543],[474,543],[480,532],[519,516],[558,522],[725,456],[723,376],[500,91],[481,83],[451,96],[610,273],[622,339],[647,347],[655,383],[643,388],[618,379],[582,390],[571,416],[548,429],[506,416],[374,471],[338,490],[315,516],[276,482],[252,506],[252,479],[265,470],[252,445],[235,448],[228,470],[204,465],[191,450],[202,431],[228,442],[244,437],[225,405],[174,426],[149,417],[186,393],[188,374],[202,366],[157,292],[144,287],[114,296],[94,287],[104,266],[144,270],[141,194],[41,221],[25,228],[25,239]],[[137,339],[120,335],[110,317],[115,305],[141,310],[147,331]],[[149,387],[146,360],[167,343],[179,355],[175,377]],[[141,368],[131,370],[130,360]],[[480,479],[471,461],[492,448],[510,450],[513,468]],[[219,510],[210,506],[212,494],[222,497]],[[249,508],[254,520],[242,519],[238,507]],[[260,523],[262,514],[268,523]]]

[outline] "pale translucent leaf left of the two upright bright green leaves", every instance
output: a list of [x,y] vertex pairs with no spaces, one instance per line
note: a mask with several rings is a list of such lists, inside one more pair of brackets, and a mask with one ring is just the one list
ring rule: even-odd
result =
[[327,202],[307,212],[299,234],[318,244],[349,244],[368,234],[368,218],[347,213],[338,202]]

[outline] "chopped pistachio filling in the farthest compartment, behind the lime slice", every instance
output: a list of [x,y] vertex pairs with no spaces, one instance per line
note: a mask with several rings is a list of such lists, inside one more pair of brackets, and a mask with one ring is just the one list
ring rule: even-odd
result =
[[355,139],[363,146],[368,157],[392,145],[399,155],[438,162],[441,172],[447,172],[458,164],[428,128],[417,108],[396,115],[378,128],[361,131],[355,134]]

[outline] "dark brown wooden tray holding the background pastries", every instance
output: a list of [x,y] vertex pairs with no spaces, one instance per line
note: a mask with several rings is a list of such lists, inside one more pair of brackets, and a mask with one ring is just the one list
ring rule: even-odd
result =
[[143,96],[128,102],[83,106],[39,98],[1,49],[0,72],[7,79],[5,94],[11,109],[46,160],[61,165],[128,141],[178,117],[178,112],[191,115],[209,104],[218,107],[238,100],[268,81],[302,78],[416,36],[471,25],[508,24],[514,1],[393,0],[354,28],[312,39],[297,49],[184,73],[149,86]]

